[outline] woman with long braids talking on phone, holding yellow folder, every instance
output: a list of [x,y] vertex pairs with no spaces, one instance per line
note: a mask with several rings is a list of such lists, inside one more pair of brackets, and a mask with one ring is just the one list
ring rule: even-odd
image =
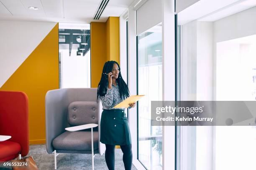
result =
[[[120,145],[123,151],[125,170],[131,170],[132,166],[131,134],[125,109],[113,108],[127,97],[129,89],[122,78],[118,63],[105,62],[98,85],[97,100],[102,101],[100,142],[106,145],[105,160],[109,170],[115,169],[115,145]],[[135,107],[135,102],[129,105],[128,108]]]

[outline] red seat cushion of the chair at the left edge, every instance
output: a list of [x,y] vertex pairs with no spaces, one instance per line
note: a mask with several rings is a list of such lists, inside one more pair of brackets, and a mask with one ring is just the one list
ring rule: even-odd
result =
[[21,146],[19,143],[8,140],[0,142],[0,161],[7,161],[16,158],[20,150]]

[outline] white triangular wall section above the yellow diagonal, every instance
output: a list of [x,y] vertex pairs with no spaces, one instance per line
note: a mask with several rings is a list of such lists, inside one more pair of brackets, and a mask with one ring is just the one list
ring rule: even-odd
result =
[[0,87],[46,37],[56,23],[0,20]]

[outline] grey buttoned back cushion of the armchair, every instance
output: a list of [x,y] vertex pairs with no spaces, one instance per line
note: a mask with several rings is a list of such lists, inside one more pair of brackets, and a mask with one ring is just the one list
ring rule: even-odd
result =
[[72,102],[68,107],[68,122],[70,125],[98,124],[97,102]]

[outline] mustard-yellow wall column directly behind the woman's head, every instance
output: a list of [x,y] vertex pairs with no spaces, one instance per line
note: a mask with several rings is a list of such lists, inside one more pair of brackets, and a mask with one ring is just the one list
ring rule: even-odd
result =
[[106,23],[91,23],[91,77],[98,87],[104,63],[120,63],[119,17],[109,17]]

